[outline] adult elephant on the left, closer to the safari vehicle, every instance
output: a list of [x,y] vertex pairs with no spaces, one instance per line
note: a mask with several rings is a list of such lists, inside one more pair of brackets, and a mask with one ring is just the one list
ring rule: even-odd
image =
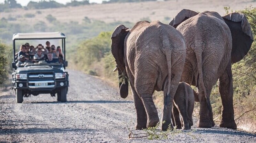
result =
[[172,126],[172,101],[185,63],[183,36],[168,24],[141,21],[131,29],[118,25],[111,39],[123,98],[128,95],[130,81],[137,114],[136,129],[158,124],[157,109],[152,100],[152,94],[157,90],[164,91],[162,130],[167,130],[168,125]]

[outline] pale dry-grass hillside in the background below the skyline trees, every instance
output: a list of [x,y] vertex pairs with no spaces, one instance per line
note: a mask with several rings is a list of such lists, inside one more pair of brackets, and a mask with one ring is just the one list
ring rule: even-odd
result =
[[[12,9],[9,12],[1,12],[1,18],[15,17],[19,22],[35,24],[38,21],[46,21],[46,16],[51,14],[60,22],[76,21],[82,23],[84,17],[92,20],[100,20],[106,23],[116,21],[137,22],[141,19],[164,20],[164,17],[172,18],[182,9],[194,11],[216,11],[221,15],[225,14],[224,6],[230,6],[233,10],[243,9],[246,6],[256,6],[256,1],[252,0],[170,0],[156,2],[139,3],[111,3],[94,4],[77,7],[66,7],[56,9],[24,10]],[[41,14],[38,14],[40,11]],[[35,17],[28,18],[24,14],[34,14]]]

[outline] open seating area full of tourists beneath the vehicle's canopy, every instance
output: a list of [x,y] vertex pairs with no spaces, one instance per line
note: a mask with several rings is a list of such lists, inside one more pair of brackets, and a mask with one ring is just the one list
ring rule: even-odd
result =
[[14,62],[17,67],[63,66],[65,59],[64,42],[63,39],[14,40]]

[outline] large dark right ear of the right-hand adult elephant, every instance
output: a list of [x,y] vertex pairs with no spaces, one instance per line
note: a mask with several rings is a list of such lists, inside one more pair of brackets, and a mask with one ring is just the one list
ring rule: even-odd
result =
[[253,34],[246,17],[242,13],[222,16],[232,35],[231,62],[236,63],[248,53],[253,43]]

